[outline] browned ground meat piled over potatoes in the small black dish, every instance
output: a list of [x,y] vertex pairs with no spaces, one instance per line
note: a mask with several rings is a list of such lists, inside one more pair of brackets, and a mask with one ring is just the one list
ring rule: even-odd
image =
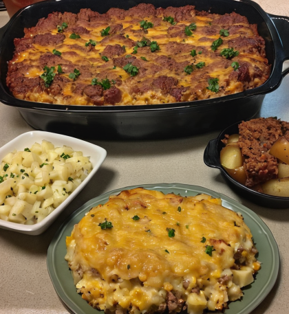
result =
[[268,151],[276,140],[289,139],[289,124],[273,117],[260,117],[239,124],[239,147],[244,156],[246,186],[277,178],[278,161]]

